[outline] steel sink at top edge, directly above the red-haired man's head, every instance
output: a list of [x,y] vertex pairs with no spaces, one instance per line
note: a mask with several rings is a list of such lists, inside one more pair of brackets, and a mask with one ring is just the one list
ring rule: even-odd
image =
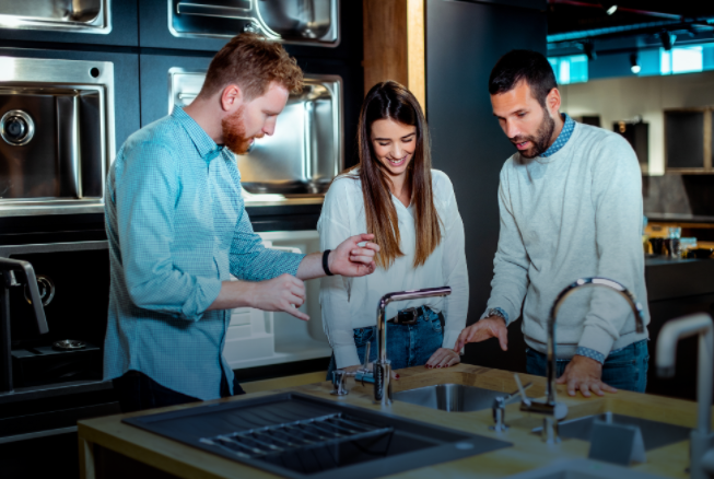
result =
[[290,44],[337,46],[337,0],[168,0],[177,37],[261,33]]

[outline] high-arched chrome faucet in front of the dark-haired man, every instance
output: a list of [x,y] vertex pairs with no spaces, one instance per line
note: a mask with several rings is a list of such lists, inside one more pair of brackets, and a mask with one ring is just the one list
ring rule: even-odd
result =
[[555,299],[553,307],[550,309],[550,317],[548,318],[548,383],[546,385],[546,402],[530,401],[530,405],[520,405],[520,410],[526,412],[536,412],[545,414],[543,418],[543,440],[549,444],[559,442],[558,439],[558,420],[567,414],[565,405],[558,405],[555,397],[555,318],[561,305],[575,290],[585,287],[605,287],[620,293],[622,297],[628,301],[635,317],[635,330],[637,332],[645,331],[645,317],[642,305],[637,303],[627,288],[617,281],[607,278],[581,278],[567,288],[565,288]]

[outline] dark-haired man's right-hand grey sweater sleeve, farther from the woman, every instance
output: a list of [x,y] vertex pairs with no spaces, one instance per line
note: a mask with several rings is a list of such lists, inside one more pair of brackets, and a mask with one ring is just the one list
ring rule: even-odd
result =
[[[634,151],[625,140],[606,137],[594,152],[593,203],[597,276],[634,291],[644,276],[642,252],[642,174]],[[612,291],[593,291],[580,348],[610,353],[624,323],[632,315],[624,299]]]

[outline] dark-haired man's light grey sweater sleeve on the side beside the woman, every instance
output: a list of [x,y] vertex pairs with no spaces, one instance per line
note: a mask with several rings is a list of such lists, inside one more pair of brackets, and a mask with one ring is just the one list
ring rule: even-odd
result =
[[[511,324],[520,316],[520,306],[528,289],[530,259],[511,206],[508,164],[506,163],[501,172],[501,184],[499,185],[501,230],[499,247],[493,259],[493,280],[487,311],[492,307],[501,308],[508,316],[507,324]],[[485,313],[482,315],[483,317],[485,317]]]

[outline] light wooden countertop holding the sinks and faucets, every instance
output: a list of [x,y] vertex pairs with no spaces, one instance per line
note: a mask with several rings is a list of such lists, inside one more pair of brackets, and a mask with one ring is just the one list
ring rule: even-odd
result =
[[[479,386],[505,393],[512,393],[516,389],[512,373],[468,364],[459,364],[448,370],[426,370],[421,366],[412,367],[400,370],[399,375],[400,379],[393,383],[395,390],[449,383]],[[529,396],[540,397],[545,394],[545,377],[529,376],[526,374],[522,374],[520,377],[524,383],[534,382],[534,386],[528,392]],[[255,398],[274,394],[278,390],[294,390],[339,402],[379,410],[379,405],[372,404],[372,385],[355,385],[350,379],[348,387],[350,388],[350,394],[339,398],[329,395],[331,384],[325,382],[219,399],[212,402]],[[589,399],[583,398],[582,396],[570,398],[563,386],[558,387],[558,394],[559,400],[569,406],[569,419],[612,411],[671,424],[686,425],[688,428],[693,428],[697,423],[697,404],[692,401],[629,392],[607,394],[605,397],[593,397]],[[164,408],[161,411],[195,406],[177,406]],[[95,466],[102,462],[97,455],[97,451],[100,449],[109,449],[113,452],[112,454],[118,453],[180,478],[274,477],[262,470],[214,456],[121,422],[121,419],[125,417],[152,414],[156,411],[159,410],[80,421],[78,424],[78,434],[82,477],[104,477],[102,474],[95,476]],[[561,444],[555,446],[549,446],[542,443],[539,436],[529,432],[532,427],[540,424],[540,419],[522,413],[518,410],[518,405],[511,405],[506,408],[506,423],[511,425],[511,429],[505,433],[489,431],[488,427],[493,423],[491,410],[445,412],[395,401],[389,407],[389,412],[415,418],[445,428],[502,439],[514,444],[513,447],[406,471],[396,475],[396,477],[433,479],[434,477],[460,477],[478,472],[480,478],[500,478],[547,466],[557,458],[587,457],[589,447],[587,442],[578,440],[563,440]],[[100,447],[94,447],[94,445]],[[658,476],[687,478],[688,475],[684,472],[684,469],[689,464],[688,457],[689,442],[683,441],[649,451],[647,453],[647,463],[634,466],[633,469]],[[124,459],[124,462],[130,460]]]

